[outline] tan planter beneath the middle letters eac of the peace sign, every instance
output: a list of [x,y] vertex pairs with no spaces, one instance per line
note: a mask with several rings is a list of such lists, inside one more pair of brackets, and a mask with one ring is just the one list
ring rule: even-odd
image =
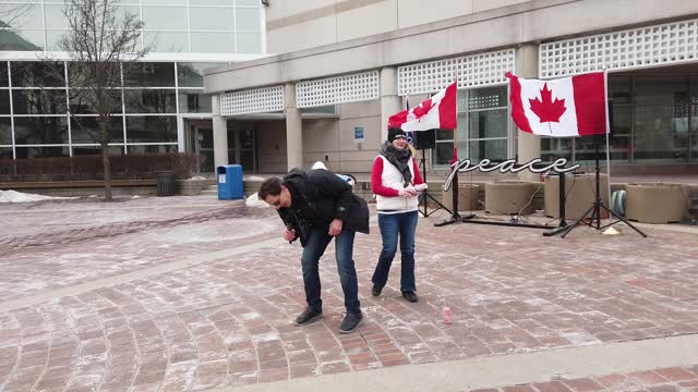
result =
[[484,210],[489,213],[531,213],[532,198],[541,183],[502,180],[484,185]]

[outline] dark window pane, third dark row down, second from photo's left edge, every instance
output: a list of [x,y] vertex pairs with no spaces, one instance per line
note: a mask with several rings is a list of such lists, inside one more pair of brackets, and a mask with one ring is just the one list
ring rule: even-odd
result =
[[68,144],[65,117],[14,118],[14,143]]

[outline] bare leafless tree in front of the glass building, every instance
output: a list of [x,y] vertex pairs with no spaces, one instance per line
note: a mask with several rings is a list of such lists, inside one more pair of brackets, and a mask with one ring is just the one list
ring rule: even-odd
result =
[[[105,172],[105,199],[111,200],[109,142],[115,107],[120,106],[121,73],[137,65],[143,22],[118,5],[119,0],[65,0],[70,30],[59,42],[68,52],[68,85],[72,102],[87,103],[97,114]],[[72,110],[69,110],[72,113]],[[73,117],[79,124],[80,118]]]

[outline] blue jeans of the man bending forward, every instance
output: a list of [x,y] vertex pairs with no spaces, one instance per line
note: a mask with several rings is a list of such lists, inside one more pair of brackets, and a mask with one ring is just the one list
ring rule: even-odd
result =
[[[325,253],[333,236],[327,234],[328,226],[313,226],[303,255],[301,266],[303,268],[303,284],[305,286],[305,301],[308,306],[322,309],[323,301],[320,298],[320,258]],[[347,314],[361,313],[359,303],[359,282],[357,281],[357,270],[353,266],[353,237],[356,232],[342,230],[335,237],[335,258],[337,259],[337,270],[341,291],[345,293],[345,307]]]

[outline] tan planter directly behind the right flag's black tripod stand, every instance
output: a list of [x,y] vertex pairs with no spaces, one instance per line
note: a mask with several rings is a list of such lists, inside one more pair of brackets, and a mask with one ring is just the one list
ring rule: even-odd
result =
[[[609,175],[600,175],[601,200],[609,204]],[[593,173],[573,174],[565,176],[565,218],[579,219],[592,205],[595,198],[597,179]],[[605,210],[601,211],[602,218],[607,218]],[[545,177],[545,216],[559,218],[559,177],[549,175]]]

